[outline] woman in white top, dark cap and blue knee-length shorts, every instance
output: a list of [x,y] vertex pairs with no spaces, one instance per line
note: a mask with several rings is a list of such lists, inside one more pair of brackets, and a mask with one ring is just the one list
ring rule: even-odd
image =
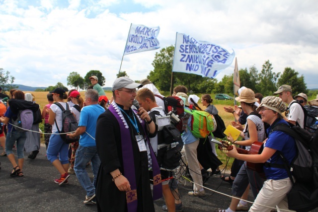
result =
[[[58,87],[54,91],[51,91],[53,95],[53,99],[56,103],[62,105],[64,109],[67,108],[67,103],[64,102],[64,99],[67,99],[67,95],[65,91]],[[55,183],[59,185],[68,184],[67,179],[70,175],[67,173],[69,168],[69,144],[64,142],[60,135],[58,135],[58,131],[62,130],[62,110],[56,104],[52,104],[49,110],[49,124],[52,125],[52,135],[50,137],[49,146],[47,149],[47,157],[48,160],[54,165],[54,167],[60,172],[61,177],[59,179],[55,179]],[[58,128],[57,128],[58,127]],[[59,129],[59,130],[58,130]]]

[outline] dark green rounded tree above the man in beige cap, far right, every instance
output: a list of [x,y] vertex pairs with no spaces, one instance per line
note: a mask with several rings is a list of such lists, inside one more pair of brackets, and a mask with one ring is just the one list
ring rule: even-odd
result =
[[290,67],[286,67],[283,74],[279,77],[277,85],[281,86],[287,84],[292,86],[295,95],[299,93],[308,93],[307,85],[305,83],[304,75],[298,77],[298,72]]

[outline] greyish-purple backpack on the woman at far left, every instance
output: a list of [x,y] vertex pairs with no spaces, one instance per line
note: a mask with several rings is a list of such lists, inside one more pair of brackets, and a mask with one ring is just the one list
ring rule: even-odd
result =
[[17,117],[11,119],[11,123],[17,132],[26,132],[28,130],[31,130],[32,124],[33,124],[32,110],[30,109],[19,110]]

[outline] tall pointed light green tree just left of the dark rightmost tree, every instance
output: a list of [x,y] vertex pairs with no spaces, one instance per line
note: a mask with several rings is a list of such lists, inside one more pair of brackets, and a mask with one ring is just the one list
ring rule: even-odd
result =
[[277,78],[280,73],[272,72],[272,64],[269,60],[265,61],[262,65],[262,71],[259,73],[259,82],[255,85],[254,92],[261,93],[263,96],[273,95],[273,92],[277,90]]

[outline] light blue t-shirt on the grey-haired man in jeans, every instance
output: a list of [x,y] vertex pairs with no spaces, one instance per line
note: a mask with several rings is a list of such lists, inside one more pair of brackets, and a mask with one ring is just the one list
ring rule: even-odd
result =
[[93,137],[92,139],[87,133],[83,133],[79,138],[81,146],[96,146],[95,133],[97,118],[104,113],[105,109],[98,104],[88,105],[81,109],[79,118],[79,127],[86,127],[86,132]]

